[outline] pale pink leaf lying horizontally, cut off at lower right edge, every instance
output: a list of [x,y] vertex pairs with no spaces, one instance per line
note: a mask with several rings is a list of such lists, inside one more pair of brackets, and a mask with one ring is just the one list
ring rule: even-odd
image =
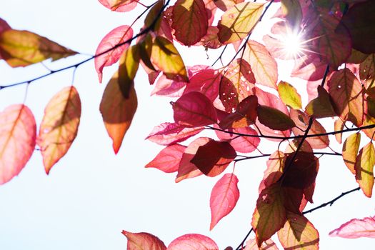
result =
[[339,236],[347,239],[375,238],[375,216],[364,219],[351,219],[338,229],[331,231],[329,236]]

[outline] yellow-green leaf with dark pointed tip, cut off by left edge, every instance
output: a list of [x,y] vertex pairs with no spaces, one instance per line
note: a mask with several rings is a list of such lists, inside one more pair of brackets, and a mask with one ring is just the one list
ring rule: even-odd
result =
[[52,61],[76,54],[44,36],[30,31],[7,29],[0,33],[1,58],[12,67],[28,66],[46,59]]

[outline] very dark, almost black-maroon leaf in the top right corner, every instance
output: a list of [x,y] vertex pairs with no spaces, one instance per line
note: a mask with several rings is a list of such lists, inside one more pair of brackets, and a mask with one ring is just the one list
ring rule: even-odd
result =
[[341,19],[339,31],[347,29],[353,48],[366,54],[375,52],[375,2],[364,1],[349,8]]

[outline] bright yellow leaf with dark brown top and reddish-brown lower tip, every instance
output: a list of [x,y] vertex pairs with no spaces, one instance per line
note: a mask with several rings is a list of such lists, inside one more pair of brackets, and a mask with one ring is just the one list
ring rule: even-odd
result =
[[155,69],[163,71],[168,79],[189,81],[184,61],[168,39],[156,36],[152,44],[150,60]]

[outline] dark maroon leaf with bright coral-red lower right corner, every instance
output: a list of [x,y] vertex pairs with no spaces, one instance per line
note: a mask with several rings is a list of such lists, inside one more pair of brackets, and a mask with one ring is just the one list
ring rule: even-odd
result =
[[229,142],[210,139],[199,146],[191,163],[206,176],[214,177],[221,174],[236,156],[236,151]]

